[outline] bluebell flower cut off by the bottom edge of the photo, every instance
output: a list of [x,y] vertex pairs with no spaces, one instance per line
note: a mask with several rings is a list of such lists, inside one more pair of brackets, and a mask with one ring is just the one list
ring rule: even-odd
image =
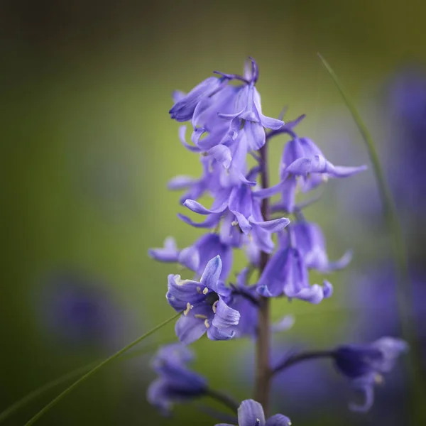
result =
[[[265,420],[262,405],[255,400],[244,400],[238,409],[238,426],[290,426],[288,417],[275,414]],[[216,426],[233,426],[229,423],[219,423]]]

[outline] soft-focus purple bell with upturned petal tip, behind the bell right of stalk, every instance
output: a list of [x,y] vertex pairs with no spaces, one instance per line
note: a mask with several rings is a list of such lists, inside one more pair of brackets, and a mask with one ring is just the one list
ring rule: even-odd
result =
[[296,222],[290,226],[293,231],[295,246],[304,259],[307,268],[327,273],[345,268],[351,261],[351,251],[347,251],[338,261],[329,261],[325,250],[324,234],[317,224]]

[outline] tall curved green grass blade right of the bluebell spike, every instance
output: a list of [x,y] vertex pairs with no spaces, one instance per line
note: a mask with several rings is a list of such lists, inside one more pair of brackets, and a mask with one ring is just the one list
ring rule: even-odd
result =
[[[413,312],[410,274],[408,272],[408,262],[405,256],[403,232],[400,226],[400,222],[398,220],[398,214],[395,208],[395,204],[393,202],[391,190],[389,190],[388,184],[386,182],[386,178],[383,173],[380,160],[378,158],[376,146],[374,146],[373,143],[373,138],[371,138],[371,135],[368,132],[364,121],[361,119],[359,112],[356,110],[354,102],[351,101],[349,96],[344,91],[342,84],[339,82],[337,75],[334,73],[329,63],[324,58],[322,58],[320,53],[318,53],[318,57],[320,58],[324,67],[329,72],[329,75],[332,77],[334,84],[336,84],[337,89],[342,95],[346,107],[348,107],[351,116],[353,117],[356,126],[358,127],[361,136],[364,139],[364,142],[366,143],[368,156],[370,157],[371,164],[373,165],[373,173],[376,177],[378,190],[383,204],[383,215],[385,218],[386,226],[388,228],[388,232],[391,235],[392,240],[392,253],[395,261],[397,275],[396,283],[398,310],[400,314],[402,334],[404,339],[410,344],[410,379],[413,383],[415,401],[417,401],[417,410],[420,410],[420,415],[422,416],[421,418],[426,419],[426,411],[422,409],[425,400],[425,390],[422,386],[422,379],[418,377],[418,373],[422,372],[421,355],[418,346],[417,333],[415,331],[413,321],[410,320],[410,312]],[[418,421],[419,419],[417,418],[417,422]]]

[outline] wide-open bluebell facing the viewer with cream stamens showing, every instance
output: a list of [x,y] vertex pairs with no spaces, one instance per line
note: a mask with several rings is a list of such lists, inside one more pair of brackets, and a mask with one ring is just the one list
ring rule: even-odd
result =
[[175,326],[180,342],[190,344],[206,332],[212,340],[234,337],[240,314],[226,304],[231,290],[219,281],[221,271],[222,261],[216,256],[207,263],[200,282],[168,275],[167,300],[175,310],[183,311]]

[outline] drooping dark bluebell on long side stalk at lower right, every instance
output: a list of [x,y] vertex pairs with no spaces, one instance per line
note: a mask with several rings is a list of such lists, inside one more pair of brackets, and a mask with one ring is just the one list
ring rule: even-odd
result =
[[351,403],[351,410],[371,408],[374,385],[382,381],[382,374],[391,371],[398,356],[407,350],[408,344],[392,337],[382,337],[371,344],[339,346],[334,350],[338,370],[349,379],[351,386],[364,393],[364,404]]

